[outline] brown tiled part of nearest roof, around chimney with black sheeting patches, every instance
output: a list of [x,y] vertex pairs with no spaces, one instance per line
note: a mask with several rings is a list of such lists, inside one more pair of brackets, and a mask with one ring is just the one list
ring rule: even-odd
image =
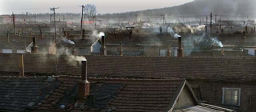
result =
[[[74,106],[76,101],[65,104],[66,108],[60,109],[54,103],[58,102],[58,105],[64,104],[64,102],[59,101],[60,98],[74,84],[80,81],[80,77],[60,76],[57,80],[60,80],[60,83],[57,84],[56,89],[45,99],[42,105],[36,108],[37,110],[70,112],[91,112],[93,110],[104,110],[103,112],[108,112],[106,110],[112,110],[113,112],[164,112],[164,110],[168,109],[172,98],[175,97],[175,92],[180,91],[178,87],[185,83],[184,79],[88,78],[90,82],[90,94],[94,94],[94,97],[99,97],[97,94],[103,95],[104,92],[107,94],[114,93],[114,96],[111,95],[110,97],[112,98],[106,99],[107,102],[94,100],[94,104],[91,104],[90,107],[84,104],[83,109],[82,107]],[[112,86],[107,87],[107,84],[112,84]],[[117,86],[117,90],[114,90],[114,86],[118,84],[121,85]],[[103,106],[97,107],[98,102],[105,103],[102,104]]]

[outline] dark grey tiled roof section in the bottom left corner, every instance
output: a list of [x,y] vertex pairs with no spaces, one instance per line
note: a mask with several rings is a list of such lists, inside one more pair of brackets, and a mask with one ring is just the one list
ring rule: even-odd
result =
[[26,112],[25,106],[50,82],[48,77],[0,76],[0,111]]

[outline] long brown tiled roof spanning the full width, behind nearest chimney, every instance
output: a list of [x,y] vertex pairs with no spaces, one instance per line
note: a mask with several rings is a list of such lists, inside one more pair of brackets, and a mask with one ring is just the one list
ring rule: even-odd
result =
[[[2,72],[18,72],[18,54],[0,54]],[[56,55],[23,54],[24,72],[54,75]],[[186,78],[256,80],[252,57],[158,57],[58,55],[58,74],[80,76],[81,60],[87,59],[88,76],[108,78]]]

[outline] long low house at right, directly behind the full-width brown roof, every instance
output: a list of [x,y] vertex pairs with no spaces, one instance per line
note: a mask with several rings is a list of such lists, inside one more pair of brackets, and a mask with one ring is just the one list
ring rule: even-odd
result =
[[[182,48],[185,56],[219,56],[214,51],[220,52],[220,44],[223,44],[224,50],[230,55],[227,56],[246,56],[255,55],[255,34],[179,34],[182,37]],[[246,37],[246,38],[244,38]],[[204,42],[207,41],[207,42]],[[202,42],[202,43],[200,43]],[[211,46],[206,46],[211,42]],[[125,52],[130,53],[130,40],[128,33],[108,33],[106,34],[107,54],[116,55],[119,50],[119,44]],[[142,56],[168,56],[166,51],[170,44],[171,56],[177,56],[178,38],[171,33],[151,33],[131,35],[131,53]],[[197,46],[202,48],[198,49]],[[242,48],[240,51],[239,49]],[[238,49],[233,50],[232,49]],[[196,52],[196,53],[195,53]],[[210,52],[210,54],[208,53]],[[127,54],[126,54],[127,55]]]

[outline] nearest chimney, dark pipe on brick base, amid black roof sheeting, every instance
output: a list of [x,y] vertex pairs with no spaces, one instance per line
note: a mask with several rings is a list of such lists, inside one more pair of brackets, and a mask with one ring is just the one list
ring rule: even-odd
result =
[[78,82],[77,102],[83,103],[90,93],[90,82],[87,81],[87,61],[82,60],[81,81]]

